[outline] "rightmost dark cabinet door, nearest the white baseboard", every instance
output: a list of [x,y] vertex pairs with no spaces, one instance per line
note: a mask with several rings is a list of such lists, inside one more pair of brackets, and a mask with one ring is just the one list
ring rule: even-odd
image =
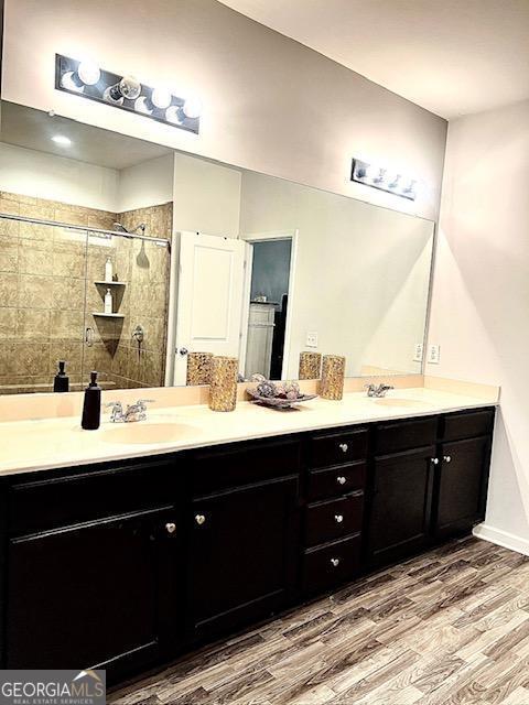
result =
[[435,533],[468,531],[485,518],[490,438],[444,443],[438,473]]

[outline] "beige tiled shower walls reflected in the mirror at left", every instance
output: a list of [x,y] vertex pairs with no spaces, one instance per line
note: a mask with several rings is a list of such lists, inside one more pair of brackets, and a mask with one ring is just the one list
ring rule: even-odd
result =
[[[171,235],[172,204],[114,214],[1,192],[0,213],[87,229],[111,229],[115,220],[127,227],[138,214],[145,235]],[[91,315],[102,311],[105,289],[94,281],[104,279],[108,257],[126,282],[119,321]],[[83,231],[0,218],[0,393],[48,391],[58,359],[67,360],[73,388],[90,369],[105,387],[163,384],[168,291],[169,251],[154,242],[90,236],[87,245]],[[138,323],[141,347],[131,338]]]

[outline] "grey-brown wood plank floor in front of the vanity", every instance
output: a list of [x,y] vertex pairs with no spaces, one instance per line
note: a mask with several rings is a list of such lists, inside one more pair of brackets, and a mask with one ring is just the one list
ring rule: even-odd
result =
[[109,694],[120,705],[529,705],[529,558],[454,541]]

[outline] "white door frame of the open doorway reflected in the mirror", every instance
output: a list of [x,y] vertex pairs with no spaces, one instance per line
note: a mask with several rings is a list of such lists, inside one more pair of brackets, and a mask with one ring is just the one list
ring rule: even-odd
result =
[[[284,323],[284,345],[283,345],[283,366],[281,368],[281,379],[288,378],[291,337],[292,337],[292,310],[293,310],[293,292],[295,269],[298,260],[298,239],[299,229],[293,230],[268,230],[262,232],[244,232],[239,235],[241,240],[251,245],[252,242],[262,242],[267,240],[290,240],[290,271],[289,271],[289,304],[287,308],[287,321]],[[251,249],[252,248],[248,248]],[[239,348],[239,369],[244,370],[246,362],[246,345],[248,340],[248,316],[250,312],[250,293],[251,293],[251,272],[252,272],[253,256],[252,251],[248,251],[248,259],[245,270],[245,289],[242,300],[242,317],[241,317],[241,336]],[[295,377],[295,376],[294,376]]]

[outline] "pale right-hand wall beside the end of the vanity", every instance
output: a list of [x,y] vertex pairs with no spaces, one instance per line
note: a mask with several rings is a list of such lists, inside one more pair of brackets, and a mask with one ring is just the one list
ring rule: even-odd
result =
[[529,553],[529,101],[450,123],[430,375],[501,386],[487,536]]

